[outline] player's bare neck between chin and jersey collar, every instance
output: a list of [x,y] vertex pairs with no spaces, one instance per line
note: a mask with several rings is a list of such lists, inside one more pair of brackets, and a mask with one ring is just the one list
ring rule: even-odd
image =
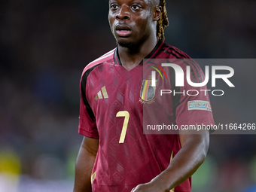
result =
[[128,71],[138,66],[142,59],[151,53],[151,51],[156,46],[157,41],[157,37],[148,38],[148,41],[143,42],[138,47],[136,47],[136,49],[121,47],[118,45],[118,54],[122,66]]

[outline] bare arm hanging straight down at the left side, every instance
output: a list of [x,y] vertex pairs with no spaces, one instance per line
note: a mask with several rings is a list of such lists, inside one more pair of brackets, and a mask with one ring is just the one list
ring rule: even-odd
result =
[[99,139],[84,137],[75,163],[75,185],[73,192],[92,191],[90,175],[99,148]]

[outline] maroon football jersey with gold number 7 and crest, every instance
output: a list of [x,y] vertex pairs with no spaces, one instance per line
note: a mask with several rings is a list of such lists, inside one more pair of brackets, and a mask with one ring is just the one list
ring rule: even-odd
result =
[[[133,187],[163,172],[181,149],[178,134],[143,134],[143,110],[149,105],[157,108],[160,103],[166,103],[168,110],[157,113],[156,118],[169,119],[178,126],[214,123],[212,111],[189,110],[187,104],[190,101],[209,102],[207,93],[206,96],[159,96],[160,87],[177,92],[191,90],[186,83],[184,87],[175,87],[172,69],[164,69],[168,81],[157,81],[155,90],[152,89],[149,79],[152,71],[149,66],[154,66],[152,59],[177,59],[184,72],[190,66],[194,82],[204,79],[196,62],[182,60],[190,57],[163,41],[158,41],[144,62],[130,71],[121,65],[116,48],[90,62],[82,73],[78,133],[99,139],[91,179],[93,192],[130,192]],[[148,72],[143,72],[145,67]],[[171,191],[190,192],[191,178]]]

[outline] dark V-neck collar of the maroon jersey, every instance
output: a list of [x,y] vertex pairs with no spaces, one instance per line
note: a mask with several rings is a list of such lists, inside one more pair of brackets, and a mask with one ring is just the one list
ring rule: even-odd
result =
[[[154,47],[154,49],[151,50],[151,53],[149,53],[148,56],[145,56],[144,59],[147,59],[146,62],[148,62],[151,59],[154,59],[160,53],[160,51],[162,50],[163,45],[164,45],[163,41],[159,40],[157,42],[156,46]],[[144,59],[142,59],[142,61],[139,62],[139,65],[143,64]],[[115,50],[114,50],[114,64],[122,66],[122,63],[120,61],[120,57],[119,57],[119,54],[118,54],[118,47],[115,48]]]

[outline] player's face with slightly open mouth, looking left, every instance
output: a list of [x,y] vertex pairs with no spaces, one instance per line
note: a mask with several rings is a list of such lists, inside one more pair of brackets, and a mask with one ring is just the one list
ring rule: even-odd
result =
[[110,0],[108,20],[118,44],[132,47],[145,41],[155,23],[150,0]]

